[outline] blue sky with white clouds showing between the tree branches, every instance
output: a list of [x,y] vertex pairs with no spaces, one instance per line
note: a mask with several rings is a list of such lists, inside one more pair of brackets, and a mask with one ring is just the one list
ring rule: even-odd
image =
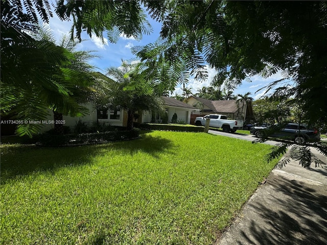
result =
[[[135,58],[135,56],[131,53],[131,47],[132,46],[138,46],[138,45],[146,45],[148,43],[153,43],[155,40],[159,37],[159,33],[161,30],[161,23],[156,22],[155,20],[148,18],[152,28],[153,32],[150,35],[144,35],[142,40],[135,40],[135,38],[127,38],[125,35],[121,35],[119,41],[117,43],[110,43],[106,35],[104,34],[104,43],[100,38],[97,38],[96,36],[92,36],[90,38],[86,32],[82,33],[82,39],[83,41],[77,45],[77,50],[87,50],[87,51],[95,51],[96,55],[101,56],[101,58],[95,58],[90,61],[90,63],[97,67],[97,70],[102,72],[103,74],[106,73],[106,68],[114,66],[119,67],[122,64],[122,60],[129,60],[131,58]],[[55,14],[54,17],[50,19],[49,21],[50,28],[53,31],[53,34],[55,38],[59,41],[63,35],[70,35],[69,31],[71,30],[72,21],[61,21]],[[191,88],[192,93],[196,93],[198,89],[201,89],[203,86],[208,87],[210,86],[209,81],[211,78],[215,76],[215,70],[209,69],[207,67],[208,71],[208,79],[206,81],[196,81],[195,79],[190,79],[189,83],[185,85],[187,88]],[[234,94],[245,94],[247,92],[251,93],[251,97],[253,97],[254,100],[260,99],[260,97],[263,95],[265,90],[261,90],[257,93],[257,91],[260,88],[263,88],[267,86],[270,82],[276,81],[281,79],[282,76],[280,72],[277,74],[267,78],[263,79],[259,76],[251,77],[251,82],[243,81],[242,85],[237,87],[234,90]],[[181,85],[178,85],[173,92],[173,95],[175,94],[181,94],[182,88]]]

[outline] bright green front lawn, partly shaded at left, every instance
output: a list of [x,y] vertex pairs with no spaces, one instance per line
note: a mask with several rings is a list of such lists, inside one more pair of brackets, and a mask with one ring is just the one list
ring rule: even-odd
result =
[[1,146],[1,244],[213,244],[267,176],[270,146],[205,133]]

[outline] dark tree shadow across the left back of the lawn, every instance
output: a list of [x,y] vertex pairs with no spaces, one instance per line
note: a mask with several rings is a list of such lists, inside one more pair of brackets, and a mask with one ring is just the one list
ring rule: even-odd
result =
[[171,140],[151,135],[143,135],[134,140],[57,148],[20,144],[3,145],[0,148],[1,183],[36,171],[52,171],[64,166],[90,164],[95,157],[116,154],[116,151],[122,150],[121,152],[126,155],[141,151],[158,158],[164,150],[167,154],[174,154],[173,148],[174,144]]

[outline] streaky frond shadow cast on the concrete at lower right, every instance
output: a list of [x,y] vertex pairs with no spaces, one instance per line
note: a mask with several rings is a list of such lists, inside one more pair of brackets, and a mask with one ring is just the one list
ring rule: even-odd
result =
[[286,179],[270,181],[270,184],[282,195],[267,197],[275,207],[255,199],[249,204],[264,222],[252,219],[247,232],[241,231],[246,244],[327,244],[325,186]]

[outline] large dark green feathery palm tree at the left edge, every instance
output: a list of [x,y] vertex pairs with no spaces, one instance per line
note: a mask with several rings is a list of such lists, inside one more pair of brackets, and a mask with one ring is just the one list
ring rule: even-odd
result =
[[[26,37],[27,43],[22,43],[24,52],[15,42],[4,47],[15,59],[2,55],[2,113],[16,114],[19,120],[40,121],[48,117],[50,109],[55,122],[62,122],[63,115],[85,115],[88,110],[81,106],[81,94],[94,81],[87,61],[95,56],[74,51],[76,44],[67,38],[57,45],[49,29],[37,30]],[[62,123],[54,126],[57,134],[63,134]],[[40,128],[40,124],[25,123],[19,124],[16,132],[32,137]]]

